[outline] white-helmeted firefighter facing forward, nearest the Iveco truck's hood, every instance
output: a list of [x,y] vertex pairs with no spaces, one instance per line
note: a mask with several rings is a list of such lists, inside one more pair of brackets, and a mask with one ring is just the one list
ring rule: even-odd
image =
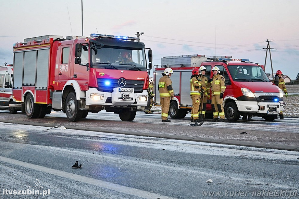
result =
[[212,96],[212,109],[213,119],[212,121],[218,121],[218,115],[220,117],[219,122],[224,122],[224,109],[223,109],[223,94],[225,91],[225,79],[220,75],[220,69],[214,66],[212,69],[213,78],[210,79],[211,84],[211,96]]

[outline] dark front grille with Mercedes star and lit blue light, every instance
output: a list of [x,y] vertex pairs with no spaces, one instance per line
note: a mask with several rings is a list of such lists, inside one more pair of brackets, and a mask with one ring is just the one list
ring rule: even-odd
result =
[[[97,85],[98,91],[102,92],[112,92],[113,88],[121,87],[118,84],[119,79],[108,79],[108,78],[98,78]],[[142,80],[126,80],[126,84],[122,88],[134,88],[135,93],[141,93],[143,91],[144,81]]]

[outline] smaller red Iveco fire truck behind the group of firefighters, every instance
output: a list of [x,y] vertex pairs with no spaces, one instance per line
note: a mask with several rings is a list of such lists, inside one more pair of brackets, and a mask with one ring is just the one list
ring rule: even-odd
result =
[[[225,117],[228,121],[237,121],[242,115],[260,116],[273,121],[283,109],[283,91],[273,84],[263,68],[246,59],[233,59],[231,56],[182,55],[167,56],[161,59],[161,65],[155,67],[155,106],[160,104],[158,82],[165,68],[173,69],[171,76],[175,98],[170,102],[169,115],[172,118],[184,118],[191,111],[190,76],[194,68],[206,67],[205,76],[212,78],[211,69],[219,67],[225,77],[223,97]],[[211,101],[207,102],[206,117],[213,116]]]

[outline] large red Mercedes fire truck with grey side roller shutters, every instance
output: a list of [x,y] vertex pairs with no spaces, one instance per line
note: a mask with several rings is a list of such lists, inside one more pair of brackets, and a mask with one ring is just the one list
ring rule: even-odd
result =
[[13,45],[13,98],[28,118],[63,110],[69,121],[89,112],[132,121],[147,106],[152,50],[139,38],[41,36]]

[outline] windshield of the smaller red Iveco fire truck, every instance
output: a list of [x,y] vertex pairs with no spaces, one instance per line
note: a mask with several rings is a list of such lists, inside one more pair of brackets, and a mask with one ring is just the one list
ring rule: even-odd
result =
[[260,66],[228,65],[228,71],[234,81],[270,82]]

